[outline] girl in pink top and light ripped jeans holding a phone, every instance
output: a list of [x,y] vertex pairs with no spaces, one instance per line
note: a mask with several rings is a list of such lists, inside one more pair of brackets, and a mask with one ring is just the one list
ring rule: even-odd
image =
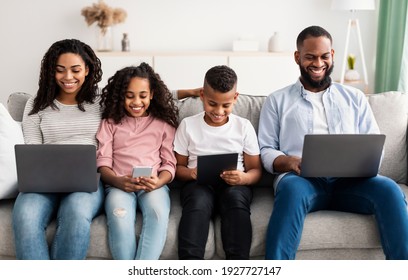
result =
[[[158,259],[166,240],[175,174],[173,140],[178,110],[172,94],[146,63],[116,72],[102,91],[97,165],[106,183],[105,211],[114,259]],[[132,178],[135,166],[150,176]],[[136,246],[136,208],[143,214]],[[137,248],[137,249],[136,249]]]

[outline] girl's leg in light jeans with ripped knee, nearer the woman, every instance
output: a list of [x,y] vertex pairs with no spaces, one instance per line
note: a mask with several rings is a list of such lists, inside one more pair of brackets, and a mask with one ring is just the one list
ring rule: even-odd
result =
[[136,256],[136,194],[106,188],[105,212],[108,241],[113,259],[134,260]]

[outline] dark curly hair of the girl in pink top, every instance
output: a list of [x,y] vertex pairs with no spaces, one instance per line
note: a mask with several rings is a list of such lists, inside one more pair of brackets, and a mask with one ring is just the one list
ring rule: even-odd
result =
[[125,99],[130,80],[134,77],[149,80],[153,99],[148,108],[149,114],[165,121],[173,127],[178,126],[178,108],[173,96],[159,74],[143,62],[139,66],[125,67],[108,79],[108,84],[102,89],[102,119],[112,119],[120,123],[126,116]]

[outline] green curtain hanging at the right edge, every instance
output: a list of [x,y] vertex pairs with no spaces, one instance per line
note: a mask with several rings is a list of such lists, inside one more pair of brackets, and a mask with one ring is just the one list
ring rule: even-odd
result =
[[402,63],[407,8],[408,0],[380,1],[375,66],[377,93],[398,90],[401,72],[408,70],[407,65]]

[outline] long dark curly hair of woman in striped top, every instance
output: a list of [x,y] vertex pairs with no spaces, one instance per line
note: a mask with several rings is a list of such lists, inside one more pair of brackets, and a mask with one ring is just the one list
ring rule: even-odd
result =
[[102,79],[101,61],[87,44],[76,39],[65,39],[52,44],[41,61],[39,87],[30,115],[38,113],[48,106],[53,109],[58,109],[54,100],[60,92],[60,87],[55,80],[55,73],[57,71],[58,58],[65,53],[73,53],[81,56],[89,69],[84,84],[75,96],[78,108],[81,111],[85,111],[83,103],[94,102],[98,94],[98,83]]

